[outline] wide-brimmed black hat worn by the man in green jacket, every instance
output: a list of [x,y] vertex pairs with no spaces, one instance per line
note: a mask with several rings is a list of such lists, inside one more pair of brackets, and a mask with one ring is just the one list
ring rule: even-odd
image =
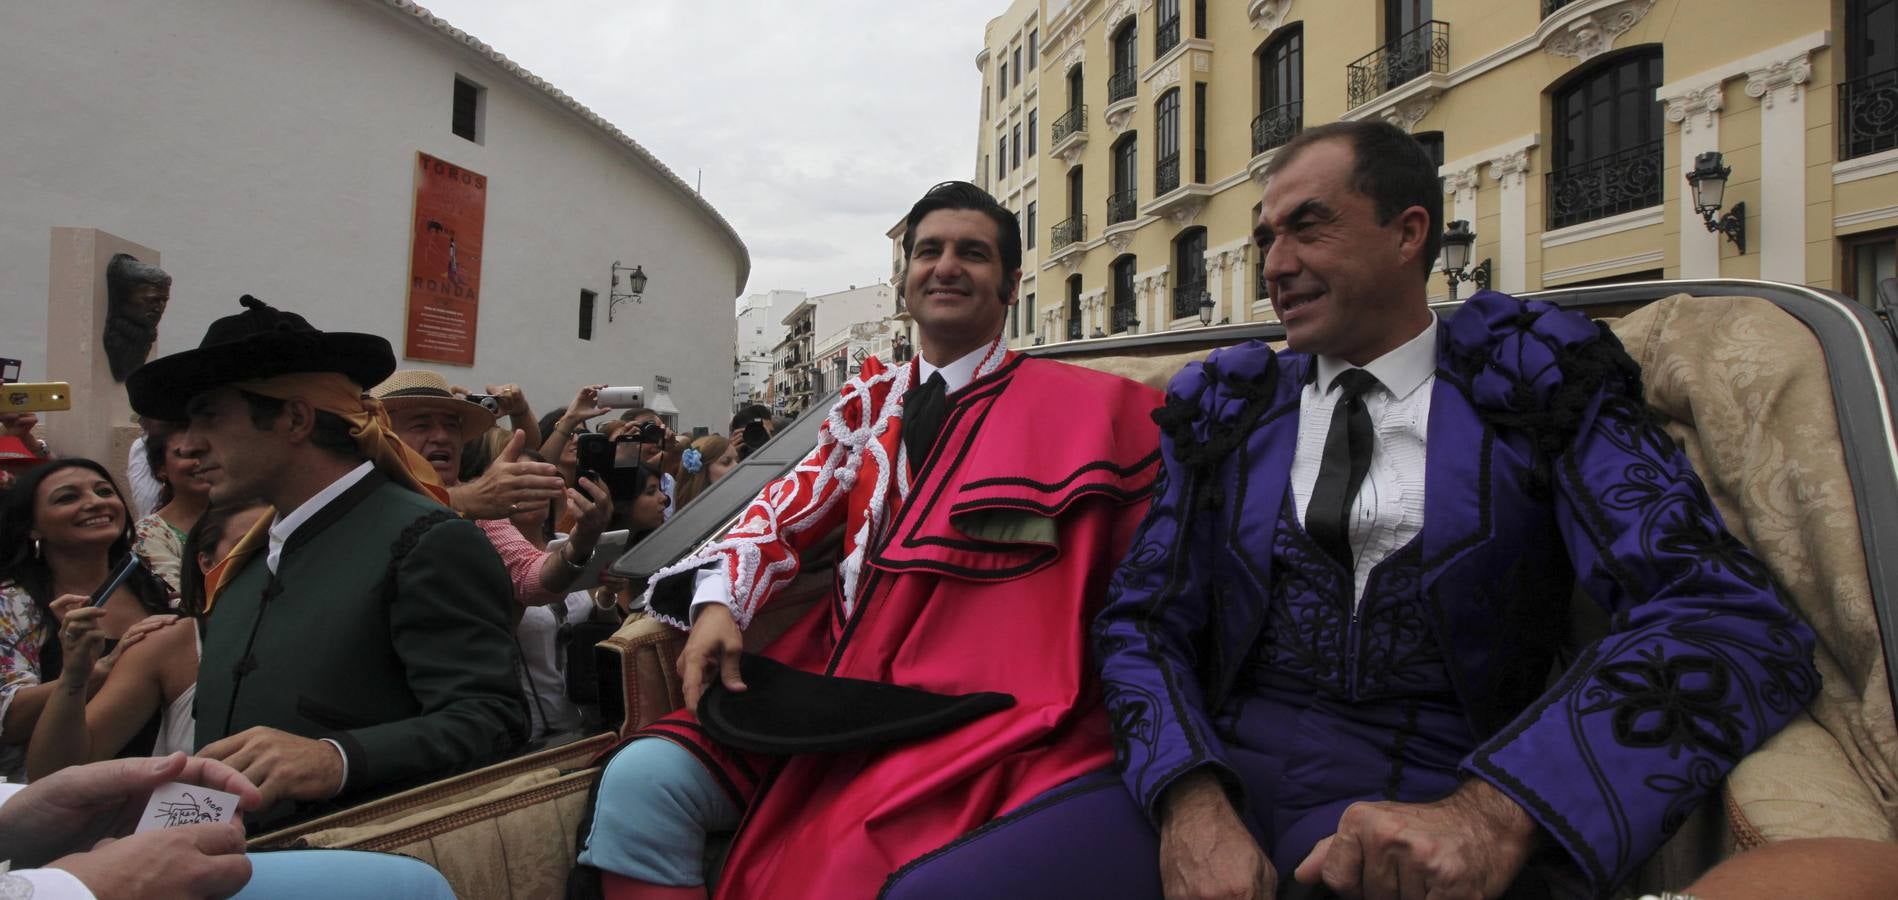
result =
[[290,372],[342,372],[368,389],[395,372],[395,347],[385,338],[323,332],[302,315],[251,294],[237,302],[245,309],[211,323],[197,349],[154,359],[125,378],[133,412],[184,422],[184,406],[192,397],[232,382]]

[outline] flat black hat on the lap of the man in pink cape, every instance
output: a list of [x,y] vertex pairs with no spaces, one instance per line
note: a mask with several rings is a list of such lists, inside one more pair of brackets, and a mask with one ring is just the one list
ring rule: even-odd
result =
[[871,750],[966,725],[1006,710],[1006,693],[932,693],[860,678],[805,672],[771,657],[738,661],[744,691],[714,680],[698,699],[698,722],[727,746],[754,754]]

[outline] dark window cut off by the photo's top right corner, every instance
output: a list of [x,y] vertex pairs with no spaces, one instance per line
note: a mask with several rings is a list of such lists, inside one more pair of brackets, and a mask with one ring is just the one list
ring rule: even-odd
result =
[[1898,0],[1845,2],[1839,159],[1898,148]]

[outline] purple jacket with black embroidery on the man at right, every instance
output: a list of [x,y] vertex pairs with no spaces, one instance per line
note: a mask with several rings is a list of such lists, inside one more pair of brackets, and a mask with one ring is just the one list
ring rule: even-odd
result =
[[[1162,482],[1095,623],[1116,763],[1152,816],[1194,769],[1237,796],[1211,712],[1264,625],[1310,370],[1222,349],[1156,414]],[[1480,292],[1439,328],[1433,391],[1424,598],[1480,739],[1461,769],[1608,891],[1818,691],[1813,634],[1606,327]],[[1577,581],[1610,632],[1551,684]]]

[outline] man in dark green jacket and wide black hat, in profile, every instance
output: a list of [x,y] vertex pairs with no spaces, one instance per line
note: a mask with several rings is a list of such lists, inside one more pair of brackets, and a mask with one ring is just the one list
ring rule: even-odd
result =
[[190,422],[214,505],[273,507],[205,575],[199,756],[264,792],[264,824],[501,758],[526,735],[509,577],[363,397],[389,342],[243,306],[125,384]]

